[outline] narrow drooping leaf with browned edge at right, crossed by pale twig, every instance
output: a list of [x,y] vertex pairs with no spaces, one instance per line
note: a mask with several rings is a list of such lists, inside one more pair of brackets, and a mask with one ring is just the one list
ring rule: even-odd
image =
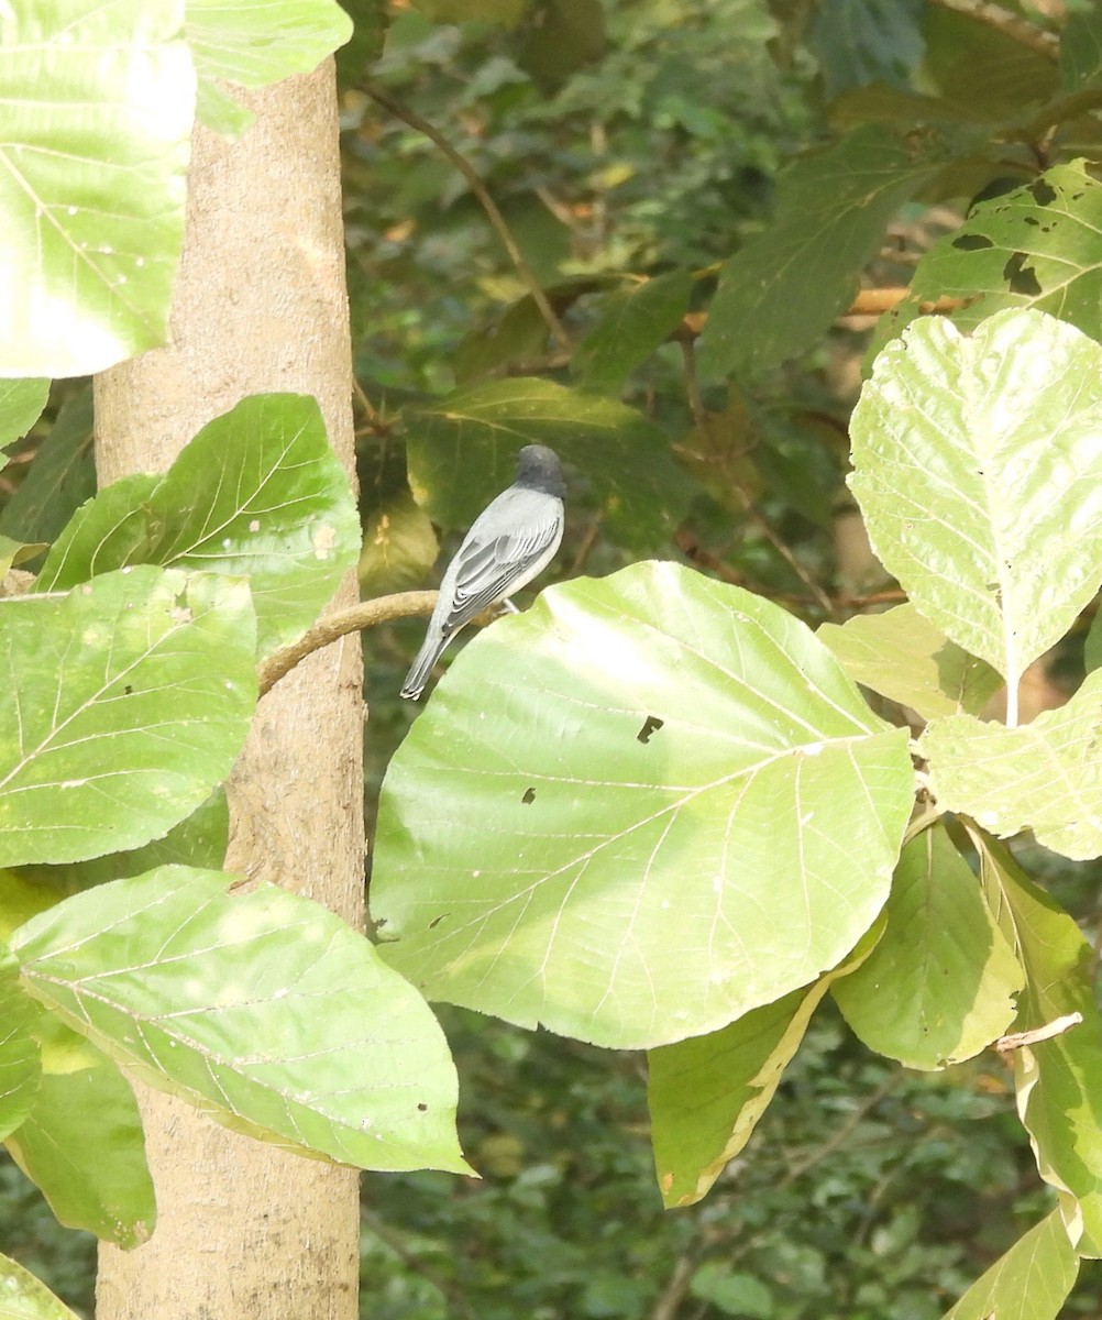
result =
[[1102,1255],[1102,1016],[1094,1002],[1090,944],[1018,866],[1004,845],[975,834],[981,879],[1003,933],[1025,969],[1015,1031],[1070,1014],[1082,1022],[1012,1052],[1018,1111],[1041,1177],[1060,1195],[1072,1243]]

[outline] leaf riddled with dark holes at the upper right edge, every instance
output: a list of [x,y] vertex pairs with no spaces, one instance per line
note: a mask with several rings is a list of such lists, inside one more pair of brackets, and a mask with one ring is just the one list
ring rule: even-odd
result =
[[1003,308],[1037,308],[1102,338],[1102,183],[1084,161],[1054,165],[990,202],[919,261],[911,293],[878,327],[886,342],[923,302],[965,298],[953,321],[971,329]]

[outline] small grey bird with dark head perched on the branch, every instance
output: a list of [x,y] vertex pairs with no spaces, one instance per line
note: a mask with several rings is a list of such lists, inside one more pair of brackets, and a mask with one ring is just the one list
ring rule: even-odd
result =
[[421,696],[439,653],[463,624],[499,601],[512,609],[508,597],[550,564],[562,540],[565,494],[558,455],[546,445],[525,445],[516,480],[479,513],[447,565],[403,697]]

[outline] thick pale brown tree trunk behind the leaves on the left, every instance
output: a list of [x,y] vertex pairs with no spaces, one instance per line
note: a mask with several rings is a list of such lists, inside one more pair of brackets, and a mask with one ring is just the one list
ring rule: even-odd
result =
[[[244,98],[243,98],[244,99]],[[96,381],[100,484],[166,469],[243,396],[314,395],[354,470],[333,62],[247,98],[238,143],[197,128],[173,343]],[[344,582],[335,602],[355,599]],[[363,927],[360,651],[346,638],[261,702],[230,783],[227,870]],[[354,1320],[352,1170],[285,1154],[136,1086],[158,1222],[102,1246],[99,1320]]]

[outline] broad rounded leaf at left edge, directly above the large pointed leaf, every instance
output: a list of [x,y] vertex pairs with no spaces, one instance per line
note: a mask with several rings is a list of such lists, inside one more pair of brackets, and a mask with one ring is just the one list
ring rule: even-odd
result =
[[124,569],[0,603],[0,866],[139,847],[234,764],[256,701],[244,582]]

